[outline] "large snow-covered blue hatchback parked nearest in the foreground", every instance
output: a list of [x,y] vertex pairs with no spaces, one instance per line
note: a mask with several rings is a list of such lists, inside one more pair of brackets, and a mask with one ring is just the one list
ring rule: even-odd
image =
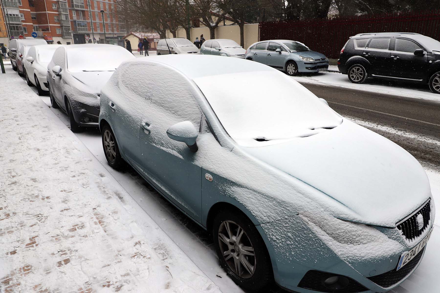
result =
[[385,292],[422,260],[429,181],[407,151],[323,102],[258,62],[153,56],[123,62],[102,88],[99,127],[109,165],[127,162],[211,232],[250,292],[273,278],[301,293]]

